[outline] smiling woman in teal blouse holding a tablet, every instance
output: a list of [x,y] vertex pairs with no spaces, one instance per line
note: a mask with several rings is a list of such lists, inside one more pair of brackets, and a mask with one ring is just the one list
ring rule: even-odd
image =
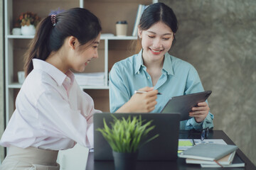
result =
[[[169,6],[156,3],[146,8],[138,29],[142,50],[115,63],[110,72],[111,112],[117,111],[134,91],[144,86],[154,86],[162,93],[152,113],[160,113],[173,96],[204,91],[196,69],[168,53],[177,30],[178,22]],[[193,118],[181,121],[181,130],[213,128],[213,114],[207,102],[198,103],[189,115]]]

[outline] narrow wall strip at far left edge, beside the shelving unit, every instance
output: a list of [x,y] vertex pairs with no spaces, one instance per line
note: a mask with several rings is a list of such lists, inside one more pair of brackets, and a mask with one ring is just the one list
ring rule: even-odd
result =
[[[4,132],[4,7],[0,1],[0,136]],[[0,147],[0,163],[4,159],[4,147]]]

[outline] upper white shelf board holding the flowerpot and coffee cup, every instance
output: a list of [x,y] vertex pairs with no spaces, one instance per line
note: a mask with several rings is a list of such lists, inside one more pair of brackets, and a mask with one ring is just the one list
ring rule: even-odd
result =
[[[33,39],[34,35],[7,35],[10,39]],[[103,36],[100,40],[137,40],[136,36]]]

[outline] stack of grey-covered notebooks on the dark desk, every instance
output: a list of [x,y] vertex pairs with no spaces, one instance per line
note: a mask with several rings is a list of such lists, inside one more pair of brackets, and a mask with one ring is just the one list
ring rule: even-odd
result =
[[244,167],[240,157],[235,154],[235,145],[200,144],[178,154],[186,158],[187,164],[201,164],[202,167]]

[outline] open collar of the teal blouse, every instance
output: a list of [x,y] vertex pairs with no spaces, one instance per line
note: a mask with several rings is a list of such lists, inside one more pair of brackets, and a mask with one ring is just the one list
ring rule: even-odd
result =
[[[142,60],[142,50],[140,50],[139,54],[137,55],[137,57],[135,59],[134,72],[135,73],[139,72],[139,69],[141,69],[141,67],[145,67],[144,64],[143,64],[143,60]],[[164,55],[163,70],[167,74],[174,75],[174,69],[172,67],[172,62],[171,62],[171,55],[169,55],[168,52],[166,52],[166,54]]]

